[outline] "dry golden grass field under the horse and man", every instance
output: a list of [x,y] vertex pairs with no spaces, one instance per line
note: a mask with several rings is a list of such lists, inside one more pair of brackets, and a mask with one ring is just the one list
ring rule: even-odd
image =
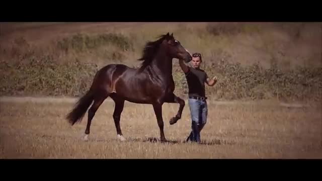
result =
[[81,140],[86,119],[70,127],[64,116],[71,103],[2,103],[0,158],[322,158],[321,106],[290,109],[274,104],[209,104],[204,144],[184,143],[190,131],[188,106],[175,125],[178,105],[164,105],[165,134],[160,143],[151,105],[126,102],[116,139],[114,104],[106,101]]

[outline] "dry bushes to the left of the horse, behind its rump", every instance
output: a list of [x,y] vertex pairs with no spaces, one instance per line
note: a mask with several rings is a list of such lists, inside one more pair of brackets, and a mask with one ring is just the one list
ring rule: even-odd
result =
[[51,56],[19,63],[0,62],[0,93],[8,96],[80,96],[92,83],[98,67],[71,61],[57,63]]

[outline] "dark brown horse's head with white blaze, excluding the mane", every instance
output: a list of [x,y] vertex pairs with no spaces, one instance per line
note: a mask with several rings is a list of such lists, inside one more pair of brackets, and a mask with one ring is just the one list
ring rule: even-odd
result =
[[163,44],[166,46],[168,55],[172,58],[178,58],[184,60],[186,63],[192,60],[190,53],[176,40],[173,33],[166,34]]

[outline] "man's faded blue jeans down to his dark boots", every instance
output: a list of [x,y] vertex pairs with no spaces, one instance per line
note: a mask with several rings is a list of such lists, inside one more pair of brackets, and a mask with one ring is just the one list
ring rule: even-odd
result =
[[188,137],[190,141],[200,142],[200,131],[207,123],[208,107],[206,101],[189,99],[192,131]]

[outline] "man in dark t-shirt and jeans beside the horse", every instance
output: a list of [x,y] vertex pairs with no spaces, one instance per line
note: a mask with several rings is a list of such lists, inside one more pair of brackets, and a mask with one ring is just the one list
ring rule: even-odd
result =
[[192,119],[192,131],[187,141],[200,142],[200,132],[207,122],[208,107],[205,95],[205,83],[213,86],[217,82],[217,77],[209,78],[207,73],[200,69],[202,58],[200,53],[192,55],[191,65],[187,66],[183,60],[179,60],[181,69],[186,75],[189,88],[189,107]]

